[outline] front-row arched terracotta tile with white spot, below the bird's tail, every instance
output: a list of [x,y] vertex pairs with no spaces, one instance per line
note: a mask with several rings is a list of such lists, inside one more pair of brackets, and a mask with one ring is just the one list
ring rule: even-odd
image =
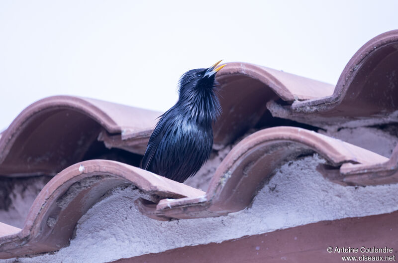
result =
[[0,258],[59,250],[78,220],[114,187],[133,184],[147,203],[204,192],[120,162],[89,160],[54,176],[34,200],[22,229],[0,223]]

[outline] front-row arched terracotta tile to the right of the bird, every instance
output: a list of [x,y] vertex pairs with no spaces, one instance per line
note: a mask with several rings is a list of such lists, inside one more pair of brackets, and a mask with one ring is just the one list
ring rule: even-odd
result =
[[372,151],[316,132],[274,127],[255,132],[228,153],[213,175],[205,196],[160,200],[155,207],[139,208],[151,217],[196,218],[224,215],[247,207],[273,171],[300,154],[317,152],[335,166],[375,164],[388,160]]

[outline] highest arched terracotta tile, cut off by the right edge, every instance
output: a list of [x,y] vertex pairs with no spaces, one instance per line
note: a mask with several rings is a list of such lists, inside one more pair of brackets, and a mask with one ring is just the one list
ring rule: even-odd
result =
[[[297,102],[293,109],[319,112],[337,108],[336,113],[353,110],[355,115],[362,116],[397,110],[397,45],[398,30],[372,38],[347,63],[332,96]],[[358,103],[366,107],[359,107]]]

